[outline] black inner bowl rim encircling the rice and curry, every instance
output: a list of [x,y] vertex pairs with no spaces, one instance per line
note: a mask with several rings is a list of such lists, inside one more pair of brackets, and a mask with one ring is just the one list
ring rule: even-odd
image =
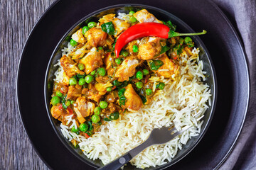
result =
[[[164,21],[171,21],[177,26],[177,30],[180,33],[193,33],[193,30],[186,25],[186,23],[183,23],[179,18],[176,16],[173,16],[171,13],[168,13],[166,11],[163,11],[159,8],[152,7],[152,6],[142,6],[142,5],[136,5],[136,4],[119,4],[116,6],[109,6],[107,8],[100,9],[98,11],[95,11],[94,13],[90,13],[88,16],[85,16],[85,18],[82,18],[78,23],[75,23],[75,25],[68,30],[68,33],[66,33],[63,38],[60,40],[58,45],[55,47],[55,51],[53,52],[52,57],[50,58],[48,68],[46,71],[46,80],[45,80],[45,101],[46,101],[46,108],[48,111],[48,115],[50,118],[50,122],[53,125],[53,128],[60,138],[60,140],[63,142],[63,144],[77,156],[80,160],[83,162],[90,164],[95,167],[103,166],[100,159],[97,159],[95,161],[92,161],[91,159],[88,159],[84,154],[81,154],[82,151],[80,149],[74,149],[73,145],[65,139],[65,137],[62,135],[62,132],[60,131],[60,121],[55,120],[51,113],[50,113],[50,99],[51,95],[53,93],[53,79],[55,78],[54,72],[58,69],[58,67],[54,67],[54,65],[58,62],[57,60],[60,60],[60,57],[62,57],[61,50],[63,47],[67,47],[67,44],[69,42],[70,36],[75,33],[78,29],[82,28],[83,26],[87,26],[87,23],[90,21],[97,22],[102,16],[109,14],[109,13],[129,13],[129,11],[139,11],[142,8],[146,8],[150,13],[153,13],[156,18],[161,18],[161,20]],[[198,136],[192,137],[191,140],[187,142],[186,145],[183,146],[183,149],[178,150],[176,157],[171,160],[168,164],[164,164],[162,166],[156,166],[156,168],[151,167],[149,169],[164,169],[168,166],[171,166],[172,164],[175,164],[179,160],[181,160],[183,157],[186,156],[191,150],[196,147],[198,142],[201,140],[203,135],[206,133],[206,130],[208,129],[210,125],[210,120],[213,118],[213,112],[215,108],[215,102],[216,102],[216,78],[215,78],[215,72],[213,69],[213,64],[210,61],[209,53],[206,50],[205,45],[201,41],[201,39],[198,36],[193,36],[193,40],[195,42],[196,47],[200,49],[200,60],[203,61],[203,69],[206,72],[206,81],[204,83],[208,84],[210,86],[210,91],[212,96],[211,99],[211,106],[207,109],[206,113],[204,114],[203,124],[201,126],[201,132]],[[128,166],[125,166],[124,169],[136,169],[134,166],[128,164]],[[146,169],[146,170],[149,170]]]

